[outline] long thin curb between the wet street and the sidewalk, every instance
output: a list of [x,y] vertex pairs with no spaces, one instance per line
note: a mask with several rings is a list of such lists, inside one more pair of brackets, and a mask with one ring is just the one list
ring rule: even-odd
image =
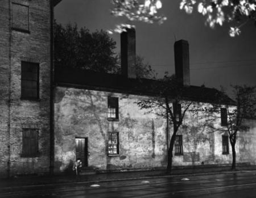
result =
[[46,186],[59,186],[62,184],[89,184],[89,183],[105,183],[105,182],[119,182],[127,180],[141,180],[141,179],[156,179],[156,178],[172,178],[172,177],[183,177],[183,176],[200,176],[200,175],[218,175],[218,174],[234,174],[242,172],[256,172],[256,170],[241,170],[241,171],[224,171],[224,172],[205,172],[199,174],[176,174],[176,175],[158,175],[158,176],[141,176],[134,178],[119,178],[119,179],[105,179],[105,180],[91,180],[91,181],[81,181],[81,182],[57,182],[57,183],[48,183],[48,184],[32,184],[25,186],[13,186],[13,187],[3,187],[0,189],[19,189],[19,188],[32,188],[32,187],[46,187]]

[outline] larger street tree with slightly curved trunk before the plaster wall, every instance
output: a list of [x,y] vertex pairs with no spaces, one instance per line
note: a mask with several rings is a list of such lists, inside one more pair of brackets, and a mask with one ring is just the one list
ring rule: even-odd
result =
[[181,85],[174,75],[170,77],[166,73],[162,79],[155,81],[155,83],[145,89],[152,90],[156,94],[148,99],[139,100],[138,106],[141,109],[147,109],[148,113],[154,113],[158,117],[163,117],[173,127],[167,156],[167,172],[170,174],[176,134],[183,124],[185,113],[189,108],[195,110],[196,106],[192,105],[193,102],[184,100],[184,86]]

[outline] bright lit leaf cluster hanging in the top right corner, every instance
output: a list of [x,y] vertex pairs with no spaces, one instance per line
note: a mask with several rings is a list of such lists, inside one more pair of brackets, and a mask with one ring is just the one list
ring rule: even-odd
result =
[[238,22],[238,26],[230,27],[229,35],[240,35],[240,27],[248,20],[256,23],[256,2],[248,0],[182,0],[180,9],[191,14],[193,8],[205,16],[205,24],[214,28],[216,24],[222,26],[224,22]]

